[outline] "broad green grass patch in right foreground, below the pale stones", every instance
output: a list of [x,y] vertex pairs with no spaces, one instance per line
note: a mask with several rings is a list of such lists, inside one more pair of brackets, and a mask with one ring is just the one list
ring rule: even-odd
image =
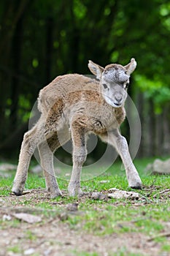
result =
[[[101,205],[102,206],[102,205]],[[94,209],[93,205],[80,206],[80,211],[85,211],[82,216],[69,216],[67,222],[70,227],[81,227],[88,233],[104,236],[112,233],[142,232],[152,236],[163,231],[163,222],[169,221],[169,206],[141,206],[134,208],[131,203],[118,206],[100,205]],[[162,210],[163,208],[163,210]],[[160,213],[159,209],[161,209]]]

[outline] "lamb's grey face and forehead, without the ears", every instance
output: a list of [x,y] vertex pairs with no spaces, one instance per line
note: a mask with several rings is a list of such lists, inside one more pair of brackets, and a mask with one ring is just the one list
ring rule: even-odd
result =
[[112,107],[120,108],[124,105],[129,78],[123,66],[111,64],[105,67],[101,75],[101,94]]

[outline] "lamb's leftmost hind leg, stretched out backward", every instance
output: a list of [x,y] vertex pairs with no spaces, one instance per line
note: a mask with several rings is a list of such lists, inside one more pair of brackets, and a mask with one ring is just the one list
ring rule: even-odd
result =
[[22,195],[26,183],[29,163],[34,153],[37,144],[42,140],[43,129],[39,123],[35,125],[30,131],[26,132],[23,137],[23,143],[20,148],[20,157],[18,162],[18,169],[15,175],[12,192],[15,195]]

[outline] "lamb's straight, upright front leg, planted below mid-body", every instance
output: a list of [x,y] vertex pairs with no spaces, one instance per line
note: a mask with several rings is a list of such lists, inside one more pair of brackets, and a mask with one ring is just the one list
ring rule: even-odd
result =
[[82,193],[80,189],[80,176],[82,165],[85,162],[87,151],[85,146],[85,133],[81,129],[80,125],[77,122],[72,124],[72,144],[73,144],[73,168],[72,176],[69,181],[69,195],[80,195]]

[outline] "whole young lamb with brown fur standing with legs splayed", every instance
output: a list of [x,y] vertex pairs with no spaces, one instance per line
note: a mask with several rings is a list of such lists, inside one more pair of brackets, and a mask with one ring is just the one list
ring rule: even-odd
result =
[[125,119],[125,84],[135,67],[134,59],[126,67],[110,64],[105,69],[90,61],[89,68],[99,81],[84,75],[63,75],[39,92],[38,108],[41,117],[24,135],[12,188],[15,195],[23,192],[28,165],[36,146],[47,190],[52,197],[61,195],[53,170],[53,153],[70,136],[73,144],[73,170],[69,194],[80,194],[80,173],[87,155],[85,138],[89,132],[96,133],[101,140],[115,146],[123,159],[129,186],[141,187],[126,140],[119,132],[120,124]]

